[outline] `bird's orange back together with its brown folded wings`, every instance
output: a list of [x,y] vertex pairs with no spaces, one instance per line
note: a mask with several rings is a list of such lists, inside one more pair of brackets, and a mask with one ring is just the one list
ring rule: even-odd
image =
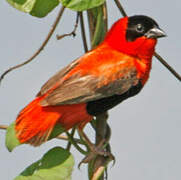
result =
[[138,83],[135,58],[103,45],[53,76],[41,89],[42,106],[77,104],[123,94]]

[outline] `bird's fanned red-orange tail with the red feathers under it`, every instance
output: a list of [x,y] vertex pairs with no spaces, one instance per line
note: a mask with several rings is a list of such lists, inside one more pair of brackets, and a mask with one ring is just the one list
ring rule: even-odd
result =
[[48,139],[57,123],[68,130],[92,119],[86,112],[86,104],[42,107],[42,99],[38,97],[32,101],[16,119],[16,135],[21,143],[39,146]]

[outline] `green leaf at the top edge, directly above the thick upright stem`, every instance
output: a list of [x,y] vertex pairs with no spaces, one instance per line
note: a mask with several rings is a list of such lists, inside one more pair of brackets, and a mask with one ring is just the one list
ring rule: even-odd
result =
[[60,0],[63,6],[74,11],[84,11],[102,5],[105,0]]

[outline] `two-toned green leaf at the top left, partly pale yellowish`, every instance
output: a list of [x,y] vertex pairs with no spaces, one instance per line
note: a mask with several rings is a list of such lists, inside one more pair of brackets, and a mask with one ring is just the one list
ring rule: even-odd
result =
[[7,2],[14,8],[36,17],[46,16],[59,4],[59,0],[7,0]]

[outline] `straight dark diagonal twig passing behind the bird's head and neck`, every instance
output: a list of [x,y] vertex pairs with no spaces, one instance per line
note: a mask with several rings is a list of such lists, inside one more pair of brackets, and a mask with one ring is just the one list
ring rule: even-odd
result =
[[[114,0],[121,14],[125,17],[127,16],[123,6],[119,2],[119,0]],[[172,68],[157,52],[154,53],[154,56],[163,64],[179,81],[181,81],[181,75],[178,74],[174,68]]]

